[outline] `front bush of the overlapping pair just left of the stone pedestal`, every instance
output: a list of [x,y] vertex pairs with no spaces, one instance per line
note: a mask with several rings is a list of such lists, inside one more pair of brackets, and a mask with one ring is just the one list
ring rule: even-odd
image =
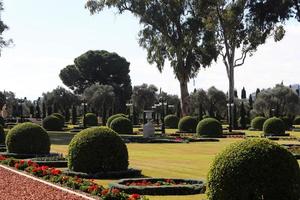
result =
[[117,117],[110,123],[110,128],[119,134],[132,134],[132,123],[128,118]]

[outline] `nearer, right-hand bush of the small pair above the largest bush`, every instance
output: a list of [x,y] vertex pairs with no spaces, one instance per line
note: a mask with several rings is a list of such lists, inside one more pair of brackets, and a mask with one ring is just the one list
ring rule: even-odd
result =
[[263,125],[263,131],[266,135],[284,135],[284,122],[277,117],[269,118],[265,121]]

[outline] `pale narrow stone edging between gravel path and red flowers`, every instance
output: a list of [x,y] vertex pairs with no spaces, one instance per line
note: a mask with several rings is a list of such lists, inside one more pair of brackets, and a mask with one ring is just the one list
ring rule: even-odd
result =
[[73,191],[73,190],[70,190],[70,189],[67,189],[67,188],[64,188],[64,187],[55,185],[55,184],[50,183],[50,182],[48,182],[48,181],[44,181],[44,180],[39,179],[39,178],[36,178],[36,177],[34,177],[34,176],[31,176],[31,175],[22,173],[22,172],[20,172],[20,171],[17,171],[17,170],[15,170],[15,169],[10,168],[10,167],[7,167],[7,166],[1,165],[1,164],[0,164],[0,167],[4,168],[4,169],[6,169],[6,170],[9,170],[9,171],[11,171],[11,172],[17,173],[17,174],[19,174],[19,175],[21,175],[21,176],[25,176],[25,177],[30,178],[30,179],[32,179],[32,180],[35,180],[35,181],[38,181],[38,182],[40,182],[40,183],[46,184],[46,185],[48,185],[48,186],[54,187],[54,188],[56,188],[56,189],[62,190],[62,191],[64,191],[64,192],[71,193],[71,194],[73,194],[73,195],[77,195],[77,196],[82,197],[82,198],[84,198],[84,199],[87,199],[87,200],[95,200],[95,199],[96,199],[96,198],[92,198],[92,197],[89,197],[89,196],[87,196],[87,195],[81,194],[81,193],[79,193],[79,192],[75,192],[75,191]]

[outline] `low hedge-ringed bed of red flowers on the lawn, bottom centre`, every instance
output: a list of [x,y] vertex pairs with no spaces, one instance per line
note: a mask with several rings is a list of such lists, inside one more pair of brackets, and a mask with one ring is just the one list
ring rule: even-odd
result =
[[121,179],[110,183],[112,189],[143,195],[191,195],[205,192],[202,180],[139,178]]

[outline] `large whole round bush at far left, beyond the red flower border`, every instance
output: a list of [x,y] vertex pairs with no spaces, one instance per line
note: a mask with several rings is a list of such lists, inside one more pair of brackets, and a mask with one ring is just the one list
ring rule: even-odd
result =
[[50,151],[48,133],[31,122],[18,124],[10,129],[5,143],[9,153],[49,154]]

